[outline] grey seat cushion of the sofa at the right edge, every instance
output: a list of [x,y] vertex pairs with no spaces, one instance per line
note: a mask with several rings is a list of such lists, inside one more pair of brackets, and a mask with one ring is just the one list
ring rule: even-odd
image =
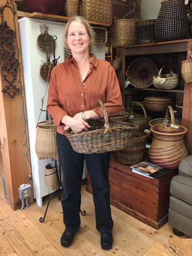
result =
[[174,176],[171,179],[170,193],[192,205],[192,177]]

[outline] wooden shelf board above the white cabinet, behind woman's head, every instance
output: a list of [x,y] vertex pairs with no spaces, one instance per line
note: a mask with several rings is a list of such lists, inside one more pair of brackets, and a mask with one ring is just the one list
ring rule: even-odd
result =
[[[62,23],[67,23],[69,20],[69,17],[64,17],[64,16],[58,16],[58,15],[53,15],[53,14],[43,14],[42,12],[21,12],[18,10],[18,18],[34,18],[34,19],[45,19],[45,20],[50,20],[50,21],[58,21]],[[99,23],[95,21],[89,21],[91,25],[97,25],[99,27],[110,27],[110,24],[107,23]]]

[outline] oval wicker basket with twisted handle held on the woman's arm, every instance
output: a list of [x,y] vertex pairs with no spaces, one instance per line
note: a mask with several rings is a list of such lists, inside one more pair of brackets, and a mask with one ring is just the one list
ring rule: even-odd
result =
[[104,123],[89,122],[91,128],[81,133],[64,132],[73,149],[78,153],[91,154],[117,151],[129,146],[138,126],[124,122],[109,123],[104,104],[100,99],[95,105],[97,103],[104,112]]

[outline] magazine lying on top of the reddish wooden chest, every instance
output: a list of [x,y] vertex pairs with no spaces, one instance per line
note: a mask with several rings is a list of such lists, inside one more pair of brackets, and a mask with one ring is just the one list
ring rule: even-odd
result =
[[130,166],[130,168],[132,169],[132,172],[150,177],[152,179],[158,179],[170,172],[170,170],[148,161],[138,162],[138,164],[134,164]]

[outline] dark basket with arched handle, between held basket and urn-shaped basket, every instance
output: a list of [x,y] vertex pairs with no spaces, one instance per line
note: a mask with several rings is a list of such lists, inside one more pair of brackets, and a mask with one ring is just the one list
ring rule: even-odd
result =
[[[143,109],[143,113],[134,113],[134,107],[136,105],[139,105],[141,109]],[[135,103],[132,105],[132,108],[130,109],[130,116],[127,120],[128,123],[132,123],[134,125],[138,125],[139,131],[144,131],[145,129],[149,129],[149,121],[151,120],[150,116],[147,116],[147,112],[142,104]]]

